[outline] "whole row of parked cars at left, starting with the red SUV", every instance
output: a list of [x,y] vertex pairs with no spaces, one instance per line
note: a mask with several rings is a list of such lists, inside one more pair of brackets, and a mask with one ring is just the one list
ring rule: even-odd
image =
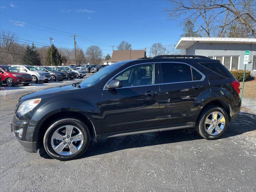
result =
[[0,86],[15,86],[30,83],[63,81],[65,79],[84,78],[86,72],[74,66],[28,66],[0,65]]

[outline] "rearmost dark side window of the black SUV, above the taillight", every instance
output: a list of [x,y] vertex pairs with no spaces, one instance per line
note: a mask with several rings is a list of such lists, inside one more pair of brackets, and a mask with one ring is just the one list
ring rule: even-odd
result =
[[200,65],[212,70],[213,72],[216,72],[217,74],[220,74],[224,77],[228,78],[234,78],[234,76],[229,72],[229,70],[222,65],[220,62],[211,62],[211,63],[200,63]]

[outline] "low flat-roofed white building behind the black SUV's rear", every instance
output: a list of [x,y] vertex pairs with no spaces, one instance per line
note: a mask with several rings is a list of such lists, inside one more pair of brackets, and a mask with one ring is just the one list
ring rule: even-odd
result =
[[202,55],[220,60],[228,70],[244,70],[244,52],[249,50],[251,64],[246,70],[256,72],[255,38],[182,37],[176,49],[185,49],[186,55]]

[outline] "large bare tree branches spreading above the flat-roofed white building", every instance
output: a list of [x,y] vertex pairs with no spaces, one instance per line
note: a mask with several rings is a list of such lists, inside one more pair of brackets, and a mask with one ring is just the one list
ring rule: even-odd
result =
[[[204,24],[201,24],[200,28],[207,37],[212,35],[216,27],[222,29],[219,36],[225,36],[226,34],[223,33],[227,26],[237,20],[256,38],[255,0],[170,0],[170,2],[172,8],[166,9],[170,18],[187,13],[190,14],[192,22],[198,22],[201,18]],[[222,22],[216,22],[219,20]],[[220,23],[222,25],[218,25]]]

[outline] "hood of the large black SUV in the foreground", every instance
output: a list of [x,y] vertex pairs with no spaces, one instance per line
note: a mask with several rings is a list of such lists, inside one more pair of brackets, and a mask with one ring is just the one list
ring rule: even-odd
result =
[[45,90],[39,90],[39,91],[36,91],[36,92],[33,92],[33,93],[23,95],[21,97],[21,100],[29,100],[29,99],[33,99],[33,98],[42,98],[46,95],[48,96],[49,94],[63,93],[64,91],[70,91],[70,90],[76,90],[76,89],[78,89],[78,88],[73,87],[72,85],[48,88],[48,89],[45,89]]

